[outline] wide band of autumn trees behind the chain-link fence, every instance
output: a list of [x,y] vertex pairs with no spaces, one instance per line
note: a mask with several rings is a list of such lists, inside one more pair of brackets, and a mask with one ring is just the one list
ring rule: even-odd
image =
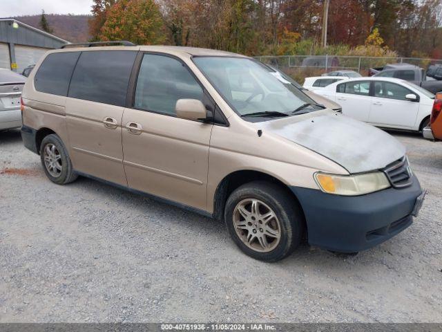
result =
[[323,0],[94,0],[92,12],[95,39],[136,44],[247,55],[442,54],[440,0],[331,0],[327,50],[318,43]]

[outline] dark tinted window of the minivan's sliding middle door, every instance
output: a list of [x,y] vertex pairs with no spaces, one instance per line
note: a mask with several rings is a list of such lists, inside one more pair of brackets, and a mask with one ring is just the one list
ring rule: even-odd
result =
[[136,55],[132,50],[81,53],[70,82],[69,97],[125,106]]

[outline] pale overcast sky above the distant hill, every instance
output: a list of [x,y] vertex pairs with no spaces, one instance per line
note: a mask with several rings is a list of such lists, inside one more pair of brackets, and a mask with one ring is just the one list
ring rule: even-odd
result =
[[90,14],[92,0],[0,0],[0,17],[41,14]]

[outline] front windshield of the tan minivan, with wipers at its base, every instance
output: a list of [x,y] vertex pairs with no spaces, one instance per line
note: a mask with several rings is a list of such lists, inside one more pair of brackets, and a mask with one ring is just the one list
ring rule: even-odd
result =
[[[302,93],[278,72],[271,72],[252,59],[240,57],[194,57],[202,73],[241,116],[271,112],[291,115],[294,111],[316,111],[306,105]],[[304,112],[305,113],[305,112]]]

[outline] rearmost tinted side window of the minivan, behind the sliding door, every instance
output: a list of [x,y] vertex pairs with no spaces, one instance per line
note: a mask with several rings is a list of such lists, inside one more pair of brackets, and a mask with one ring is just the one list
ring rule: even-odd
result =
[[[79,52],[52,53],[43,60],[34,78],[35,89],[52,95],[68,94],[70,76]],[[32,71],[32,68],[30,68]]]

